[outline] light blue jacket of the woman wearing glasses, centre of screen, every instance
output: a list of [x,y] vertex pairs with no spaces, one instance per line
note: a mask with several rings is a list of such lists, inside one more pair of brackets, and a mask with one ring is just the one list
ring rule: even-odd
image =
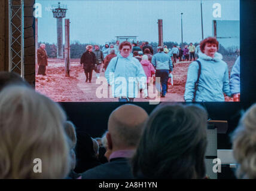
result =
[[[117,60],[118,59],[118,60]],[[147,76],[144,69],[132,54],[124,58],[120,53],[111,59],[106,68],[105,77],[109,85],[112,85],[113,97],[138,97],[138,85],[144,89]]]

